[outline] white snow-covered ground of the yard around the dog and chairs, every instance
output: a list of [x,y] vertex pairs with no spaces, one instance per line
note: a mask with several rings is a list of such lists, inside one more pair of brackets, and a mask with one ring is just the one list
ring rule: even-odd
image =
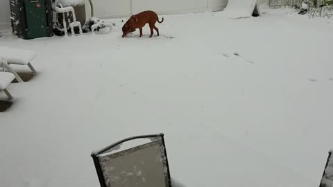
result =
[[148,26],[121,38],[121,19],[108,35],[5,33],[1,46],[39,53],[39,73],[8,88],[0,186],[99,186],[92,150],[160,132],[186,186],[318,186],[333,147],[333,24],[289,12],[169,15],[151,39]]

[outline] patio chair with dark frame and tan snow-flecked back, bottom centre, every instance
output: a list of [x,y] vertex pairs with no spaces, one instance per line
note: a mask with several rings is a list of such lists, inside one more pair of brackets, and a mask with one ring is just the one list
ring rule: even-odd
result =
[[101,187],[171,187],[164,134],[123,139],[91,156]]

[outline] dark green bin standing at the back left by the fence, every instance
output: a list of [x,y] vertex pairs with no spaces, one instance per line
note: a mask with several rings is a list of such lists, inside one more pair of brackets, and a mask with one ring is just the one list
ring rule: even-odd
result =
[[10,0],[12,32],[22,39],[53,36],[51,0]]

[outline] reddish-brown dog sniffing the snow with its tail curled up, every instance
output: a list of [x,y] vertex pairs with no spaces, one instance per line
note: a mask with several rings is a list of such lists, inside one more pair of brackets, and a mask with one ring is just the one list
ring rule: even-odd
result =
[[158,28],[155,26],[156,21],[160,24],[164,21],[164,18],[162,17],[162,21],[158,21],[158,16],[155,12],[148,10],[141,12],[137,15],[133,15],[128,19],[125,25],[123,25],[123,37],[125,37],[128,33],[132,33],[135,31],[136,28],[139,28],[140,30],[140,37],[142,37],[142,28],[149,24],[149,27],[151,28],[151,37],[153,36],[153,29],[156,30],[157,36],[160,35],[158,32]]

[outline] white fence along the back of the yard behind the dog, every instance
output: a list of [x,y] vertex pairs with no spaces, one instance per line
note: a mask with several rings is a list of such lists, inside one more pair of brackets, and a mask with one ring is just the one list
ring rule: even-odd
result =
[[[180,14],[223,10],[228,0],[93,0],[95,16],[101,19],[127,17],[142,10]],[[89,3],[86,1],[87,12]],[[9,0],[0,0],[0,30],[10,29]]]

